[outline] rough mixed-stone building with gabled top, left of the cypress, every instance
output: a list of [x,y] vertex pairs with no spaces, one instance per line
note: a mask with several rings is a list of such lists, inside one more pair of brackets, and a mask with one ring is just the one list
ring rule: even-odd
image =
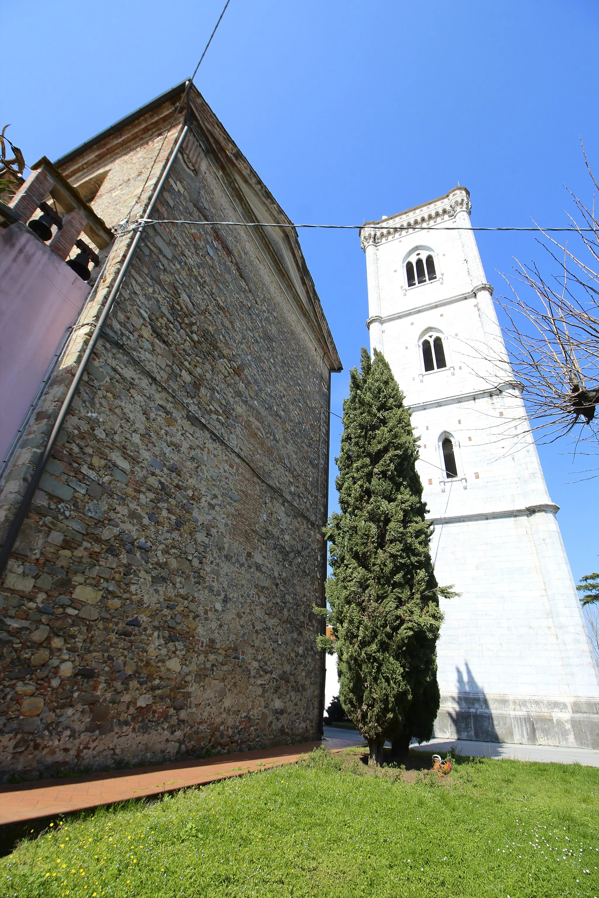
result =
[[[100,182],[109,224],[172,105],[121,128],[122,151],[100,136],[63,166]],[[286,221],[195,89],[186,121],[153,216]],[[13,459],[4,528],[130,240]],[[145,229],[4,576],[4,778],[318,737],[331,370],[295,232]]]

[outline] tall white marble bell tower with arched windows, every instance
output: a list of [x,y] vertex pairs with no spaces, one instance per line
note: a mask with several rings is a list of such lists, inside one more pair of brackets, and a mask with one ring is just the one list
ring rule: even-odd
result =
[[[371,351],[420,437],[442,601],[435,735],[599,748],[599,680],[470,225],[470,194],[361,229]],[[402,225],[401,231],[393,225]]]

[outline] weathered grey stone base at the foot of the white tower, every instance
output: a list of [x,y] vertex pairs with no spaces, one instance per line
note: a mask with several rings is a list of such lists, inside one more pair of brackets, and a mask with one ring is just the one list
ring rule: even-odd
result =
[[598,749],[599,700],[442,693],[435,735],[477,742]]

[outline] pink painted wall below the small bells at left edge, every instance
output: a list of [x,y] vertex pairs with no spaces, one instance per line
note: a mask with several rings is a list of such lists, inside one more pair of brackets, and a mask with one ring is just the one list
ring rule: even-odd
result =
[[26,227],[0,231],[0,461],[88,292]]

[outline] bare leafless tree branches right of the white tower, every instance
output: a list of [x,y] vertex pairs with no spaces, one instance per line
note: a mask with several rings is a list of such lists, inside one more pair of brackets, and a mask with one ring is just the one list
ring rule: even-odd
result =
[[[583,146],[584,152],[584,146]],[[506,379],[520,383],[533,430],[543,442],[575,431],[581,452],[597,454],[599,422],[599,220],[597,182],[590,207],[571,191],[577,210],[572,235],[559,242],[539,229],[546,264],[516,260],[506,280],[511,294],[497,300],[504,313],[509,362]],[[578,220],[577,220],[578,219]],[[499,357],[498,365],[502,364]],[[576,428],[576,429],[575,429]],[[581,471],[596,476],[598,471]]]

